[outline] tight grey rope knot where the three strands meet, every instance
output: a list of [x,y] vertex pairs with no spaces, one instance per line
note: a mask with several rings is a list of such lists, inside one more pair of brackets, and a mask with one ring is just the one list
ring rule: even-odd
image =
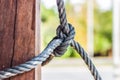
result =
[[58,46],[54,50],[53,54],[56,57],[62,56],[66,52],[67,47],[70,45],[71,41],[74,39],[74,35],[75,35],[75,30],[71,24],[68,24],[67,28],[64,27],[63,25],[59,25],[59,27],[57,28],[56,38],[62,39],[63,41],[60,44],[60,46]]

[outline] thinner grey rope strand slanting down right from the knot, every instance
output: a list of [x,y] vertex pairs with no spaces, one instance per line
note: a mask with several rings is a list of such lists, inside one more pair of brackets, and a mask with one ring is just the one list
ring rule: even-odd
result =
[[84,62],[87,64],[90,72],[94,76],[94,79],[95,80],[102,80],[102,78],[99,75],[96,67],[92,63],[91,59],[89,58],[89,56],[87,55],[87,53],[85,52],[85,50],[80,46],[80,44],[78,42],[76,42],[76,41],[73,40],[72,43],[71,43],[71,46],[73,48],[75,48],[75,50],[79,53],[79,55],[82,57],[82,59],[84,60]]

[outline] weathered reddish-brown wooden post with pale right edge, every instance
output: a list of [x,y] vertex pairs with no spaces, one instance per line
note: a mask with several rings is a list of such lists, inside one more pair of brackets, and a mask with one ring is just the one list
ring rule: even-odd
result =
[[[0,0],[0,70],[24,63],[39,53],[39,1]],[[37,75],[32,70],[6,80],[38,80]]]

